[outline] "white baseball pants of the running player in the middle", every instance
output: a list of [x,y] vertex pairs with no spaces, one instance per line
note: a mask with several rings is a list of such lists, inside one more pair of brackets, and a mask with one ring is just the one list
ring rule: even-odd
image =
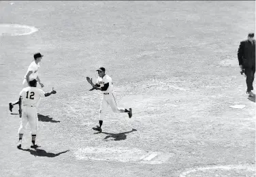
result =
[[118,108],[116,104],[116,98],[114,97],[113,93],[108,93],[105,95],[103,93],[101,97],[101,107],[99,110],[99,120],[104,120],[106,116],[106,110],[108,108],[108,105],[110,105],[111,109],[115,113],[122,113],[125,112],[125,108]]

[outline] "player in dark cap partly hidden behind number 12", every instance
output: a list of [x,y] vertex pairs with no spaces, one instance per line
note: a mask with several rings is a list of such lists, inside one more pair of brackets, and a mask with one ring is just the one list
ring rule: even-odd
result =
[[[29,65],[29,68],[27,69],[27,73],[26,75],[24,76],[24,80],[22,82],[22,85],[23,85],[23,88],[29,86],[29,81],[31,80],[37,80],[39,82],[39,84],[41,85],[41,87],[44,87],[44,84],[42,84],[42,82],[40,82],[40,79],[38,77],[38,69],[40,67],[39,63],[41,62],[41,59],[42,57],[44,57],[44,55],[40,54],[40,53],[36,53],[34,54],[34,59],[35,61],[33,61],[30,65]],[[19,114],[20,114],[20,117],[22,116],[22,106],[20,105],[21,104],[21,98],[19,98],[17,101],[15,101],[14,103],[10,102],[9,103],[9,109],[10,109],[10,112],[12,112],[12,108],[14,108],[14,105],[18,104],[19,106]]]

